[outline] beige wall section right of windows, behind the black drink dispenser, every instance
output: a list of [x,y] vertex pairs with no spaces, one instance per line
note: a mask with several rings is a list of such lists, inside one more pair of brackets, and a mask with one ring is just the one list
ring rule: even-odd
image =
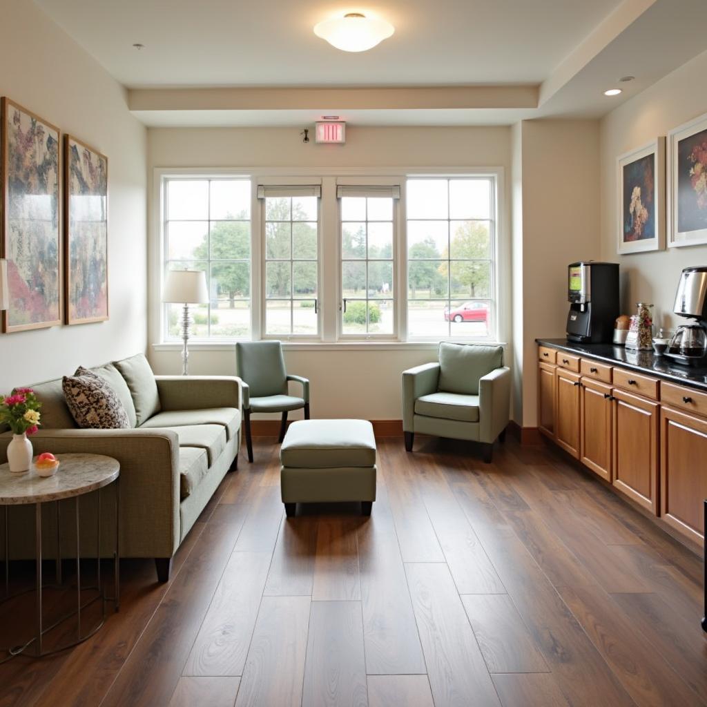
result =
[[[567,266],[598,259],[599,124],[582,120],[529,120],[515,128],[514,170],[522,175],[522,210],[513,223],[514,329],[522,341],[522,425],[537,425],[537,337],[564,337]],[[514,207],[515,209],[515,204]],[[518,229],[521,233],[518,233]],[[522,257],[522,268],[519,267]],[[522,284],[518,279],[522,276]],[[522,312],[522,329],[518,317]],[[516,391],[518,395],[518,391]]]

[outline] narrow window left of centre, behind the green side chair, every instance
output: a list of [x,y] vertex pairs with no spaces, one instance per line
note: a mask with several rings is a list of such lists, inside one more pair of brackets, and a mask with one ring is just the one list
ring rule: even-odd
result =
[[319,335],[320,187],[259,187],[266,336]]

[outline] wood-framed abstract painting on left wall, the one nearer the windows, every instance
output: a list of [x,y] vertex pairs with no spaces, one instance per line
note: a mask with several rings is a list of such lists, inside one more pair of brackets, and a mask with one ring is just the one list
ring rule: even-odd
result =
[[108,318],[108,158],[64,136],[66,324]]

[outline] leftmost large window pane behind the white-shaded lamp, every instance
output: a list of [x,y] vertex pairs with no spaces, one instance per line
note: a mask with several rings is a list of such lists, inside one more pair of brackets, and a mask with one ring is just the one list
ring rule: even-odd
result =
[[[166,269],[206,273],[211,301],[192,305],[192,337],[250,338],[250,180],[165,180]],[[181,305],[166,305],[165,337],[180,335]]]

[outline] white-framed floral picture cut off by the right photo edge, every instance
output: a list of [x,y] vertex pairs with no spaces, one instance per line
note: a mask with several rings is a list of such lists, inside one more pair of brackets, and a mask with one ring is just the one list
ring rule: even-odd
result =
[[707,243],[707,114],[670,131],[670,240]]

